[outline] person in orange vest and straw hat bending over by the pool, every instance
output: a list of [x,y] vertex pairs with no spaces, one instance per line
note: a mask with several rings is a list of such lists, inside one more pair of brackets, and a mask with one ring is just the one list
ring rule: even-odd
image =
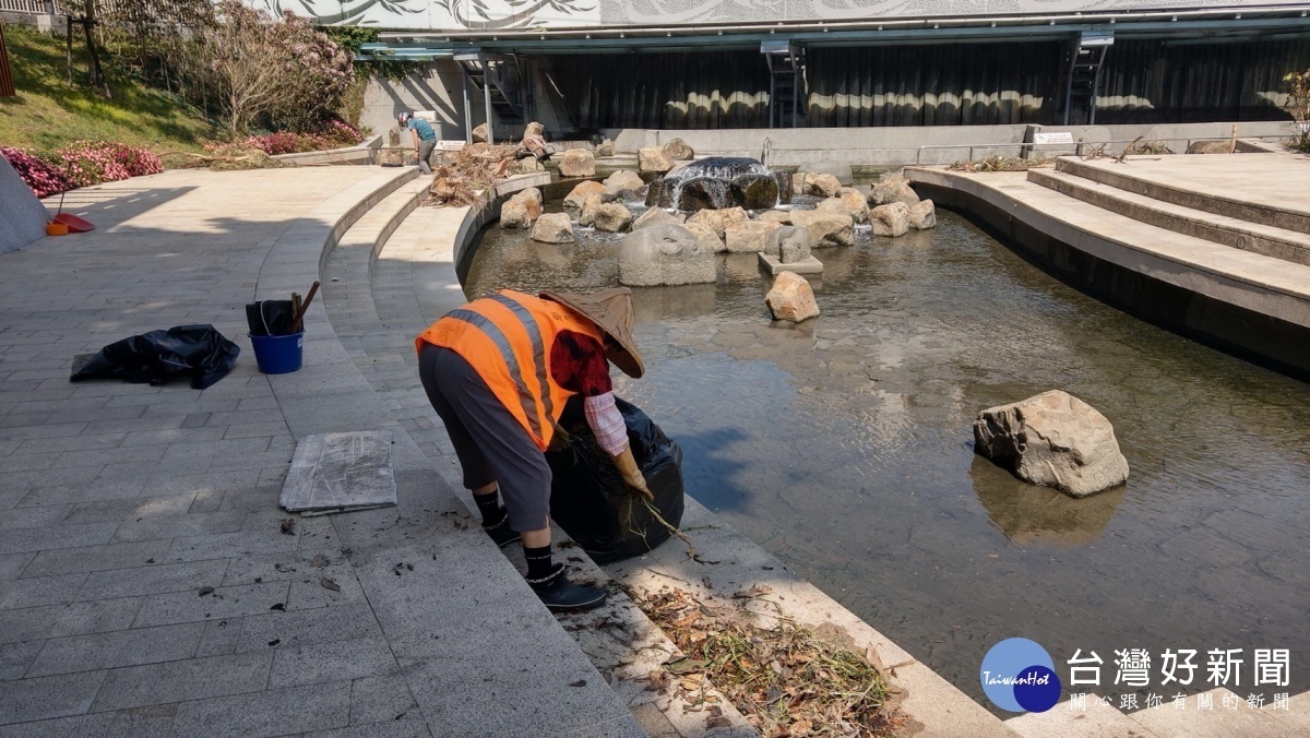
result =
[[570,582],[552,558],[545,451],[565,402],[582,395],[597,443],[624,481],[652,498],[609,379],[610,362],[634,379],[646,371],[633,340],[631,290],[500,290],[451,311],[414,346],[423,389],[451,435],[483,530],[502,548],[523,541],[528,583],[546,607],[604,604],[604,590]]

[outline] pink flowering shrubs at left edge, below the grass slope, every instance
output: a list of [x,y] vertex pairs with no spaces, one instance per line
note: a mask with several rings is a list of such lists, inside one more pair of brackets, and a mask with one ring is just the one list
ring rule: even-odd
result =
[[17,148],[0,148],[0,153],[38,198],[164,170],[153,153],[121,143],[75,142],[45,156]]

